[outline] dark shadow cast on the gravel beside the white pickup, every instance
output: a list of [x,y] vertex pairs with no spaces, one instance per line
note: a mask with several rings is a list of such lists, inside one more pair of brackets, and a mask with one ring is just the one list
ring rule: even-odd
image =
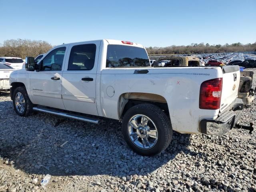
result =
[[116,120],[94,125],[42,113],[25,118],[16,115],[11,101],[0,105],[4,106],[0,114],[8,114],[0,116],[0,156],[29,174],[147,175],[178,153],[198,155],[187,148],[189,134],[174,132],[162,154],[143,157],[126,145]]

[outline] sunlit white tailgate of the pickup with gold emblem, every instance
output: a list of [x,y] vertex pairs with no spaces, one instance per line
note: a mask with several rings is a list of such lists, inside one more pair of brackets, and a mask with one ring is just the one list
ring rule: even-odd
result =
[[223,66],[222,95],[220,112],[224,111],[236,98],[240,82],[239,66]]

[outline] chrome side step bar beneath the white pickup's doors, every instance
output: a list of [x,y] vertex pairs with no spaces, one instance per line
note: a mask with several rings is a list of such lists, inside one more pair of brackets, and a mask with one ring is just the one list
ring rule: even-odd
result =
[[98,120],[98,119],[85,117],[85,116],[72,114],[72,113],[66,113],[66,112],[62,112],[62,111],[58,111],[58,110],[54,110],[54,109],[43,108],[43,107],[33,107],[33,110],[39,111],[39,112],[44,112],[44,113],[49,113],[49,114],[53,114],[53,115],[58,115],[58,116],[62,116],[62,117],[67,117],[67,118],[71,118],[71,119],[76,119],[76,120],[80,120],[80,121],[90,122],[90,123],[94,123],[94,124],[99,124],[99,122],[100,122],[100,120]]

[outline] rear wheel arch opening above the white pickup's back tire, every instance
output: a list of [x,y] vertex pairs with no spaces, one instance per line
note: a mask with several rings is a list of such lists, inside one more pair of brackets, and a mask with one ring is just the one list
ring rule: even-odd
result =
[[155,104],[169,116],[168,104],[163,96],[152,93],[128,92],[121,94],[118,98],[119,119],[123,118],[129,108],[142,103]]

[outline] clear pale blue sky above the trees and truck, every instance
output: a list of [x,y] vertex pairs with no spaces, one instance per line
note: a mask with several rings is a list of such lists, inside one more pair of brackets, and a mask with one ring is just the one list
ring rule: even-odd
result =
[[146,47],[256,42],[256,0],[0,0],[0,44],[98,39]]

